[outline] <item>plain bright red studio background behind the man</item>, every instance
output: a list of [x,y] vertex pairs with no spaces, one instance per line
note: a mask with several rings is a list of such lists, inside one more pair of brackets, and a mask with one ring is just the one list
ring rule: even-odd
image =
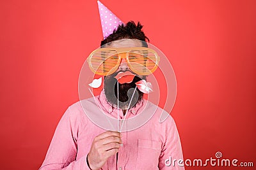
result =
[[[255,169],[256,1],[102,3],[124,22],[140,20],[170,59],[184,159],[220,151]],[[1,1],[0,22],[1,169],[38,169],[102,39],[97,1]]]

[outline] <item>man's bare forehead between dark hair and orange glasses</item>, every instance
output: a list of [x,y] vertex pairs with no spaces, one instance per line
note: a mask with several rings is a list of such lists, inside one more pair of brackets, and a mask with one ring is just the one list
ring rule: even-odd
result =
[[108,44],[108,47],[125,48],[125,47],[140,47],[142,42],[137,39],[120,39]]

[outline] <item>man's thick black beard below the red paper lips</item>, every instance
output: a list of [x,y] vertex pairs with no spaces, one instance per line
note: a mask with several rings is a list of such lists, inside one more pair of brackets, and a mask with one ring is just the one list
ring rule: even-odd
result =
[[[137,103],[143,99],[143,92],[136,88],[136,82],[140,81],[141,78],[138,76],[134,76],[131,83],[124,83],[120,84],[117,83],[116,78],[114,76],[106,76],[104,78],[104,93],[106,95],[106,99],[108,103],[112,104],[113,106],[117,106],[117,84],[118,84],[118,98],[119,98],[119,108],[127,109],[130,104],[129,108],[134,107]],[[134,96],[132,97],[132,94]],[[132,99],[132,100],[131,100]]]

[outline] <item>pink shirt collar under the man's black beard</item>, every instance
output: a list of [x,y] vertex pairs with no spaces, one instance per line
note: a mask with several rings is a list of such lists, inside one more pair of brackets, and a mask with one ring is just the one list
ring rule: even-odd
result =
[[[99,99],[99,102],[100,102],[102,108],[104,108],[104,110],[106,112],[108,112],[109,114],[113,113],[114,110],[117,111],[117,108],[115,108],[114,106],[112,106],[111,104],[108,103],[108,101],[106,99],[106,95],[104,94],[104,90],[102,90],[100,92],[98,99]],[[140,103],[137,103],[135,107],[129,109],[128,112],[130,111],[132,113],[132,115],[137,115],[137,113],[140,112],[140,109],[143,108],[142,107],[143,105],[144,105],[144,99],[142,99],[140,101]]]

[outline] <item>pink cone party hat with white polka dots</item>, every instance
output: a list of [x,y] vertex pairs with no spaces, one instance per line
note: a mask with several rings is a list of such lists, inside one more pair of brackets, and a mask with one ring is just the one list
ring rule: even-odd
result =
[[124,24],[113,12],[111,12],[104,4],[98,1],[100,22],[102,25],[102,33],[104,38],[112,34],[118,25]]

